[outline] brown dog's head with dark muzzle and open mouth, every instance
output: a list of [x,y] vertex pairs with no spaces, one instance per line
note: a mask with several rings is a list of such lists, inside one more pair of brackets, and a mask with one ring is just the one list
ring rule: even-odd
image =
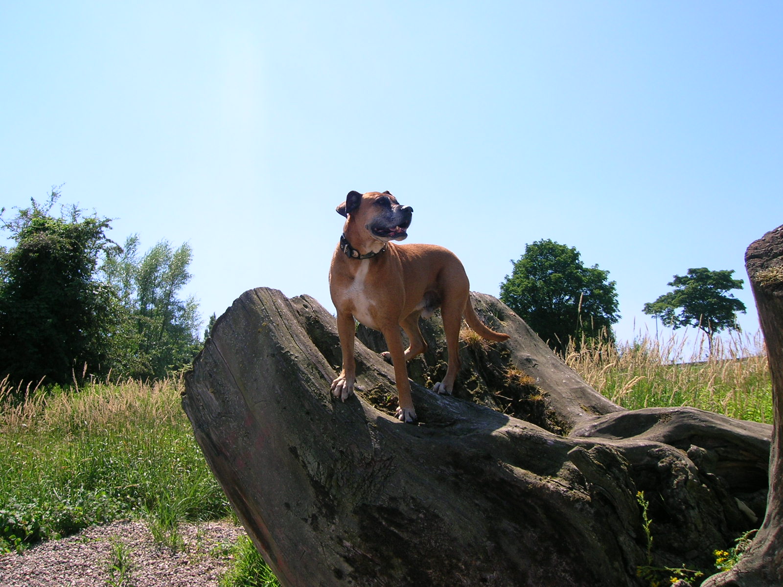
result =
[[348,192],[345,202],[337,206],[337,213],[348,218],[346,228],[362,227],[373,239],[388,242],[406,239],[413,208],[402,206],[389,192]]

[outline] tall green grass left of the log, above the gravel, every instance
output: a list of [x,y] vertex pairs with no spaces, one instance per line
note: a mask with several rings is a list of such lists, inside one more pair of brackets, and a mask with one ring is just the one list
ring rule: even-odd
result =
[[0,390],[0,552],[92,524],[176,524],[229,515],[179,405],[182,384]]

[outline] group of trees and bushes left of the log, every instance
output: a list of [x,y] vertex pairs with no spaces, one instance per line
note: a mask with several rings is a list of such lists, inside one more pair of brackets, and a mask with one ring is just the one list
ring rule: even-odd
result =
[[110,218],[76,206],[16,209],[0,229],[0,379],[66,384],[91,375],[156,379],[189,363],[200,348],[198,304],[179,292],[192,251],[161,240],[139,254],[106,236]]

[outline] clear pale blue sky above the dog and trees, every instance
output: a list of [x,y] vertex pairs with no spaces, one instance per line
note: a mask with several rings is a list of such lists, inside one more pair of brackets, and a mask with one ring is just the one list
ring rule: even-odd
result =
[[[781,2],[0,4],[0,205],[193,247],[204,318],[244,290],[332,309],[352,189],[498,295],[554,239],[617,282],[616,331],[783,223]],[[6,212],[6,214],[8,214]]]

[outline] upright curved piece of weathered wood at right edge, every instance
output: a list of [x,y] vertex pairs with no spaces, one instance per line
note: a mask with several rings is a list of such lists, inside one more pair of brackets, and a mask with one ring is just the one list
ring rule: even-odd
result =
[[770,491],[767,513],[750,549],[727,573],[705,585],[769,587],[783,585],[783,225],[767,232],[745,251],[753,297],[772,374],[774,439],[770,452]]

